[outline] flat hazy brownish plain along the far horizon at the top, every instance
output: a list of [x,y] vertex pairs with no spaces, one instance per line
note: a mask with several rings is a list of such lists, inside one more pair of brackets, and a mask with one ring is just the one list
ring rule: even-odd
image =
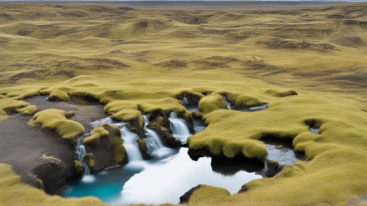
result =
[[140,8],[145,10],[292,10],[329,7],[341,4],[355,4],[363,1],[7,1],[3,3],[35,3],[35,4],[62,4],[62,5],[110,5],[121,7]]

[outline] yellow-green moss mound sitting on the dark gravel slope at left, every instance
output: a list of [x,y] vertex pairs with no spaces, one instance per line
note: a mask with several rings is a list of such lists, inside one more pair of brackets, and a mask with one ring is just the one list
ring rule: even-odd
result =
[[75,142],[84,133],[84,128],[78,122],[66,119],[65,114],[65,111],[57,109],[43,110],[34,114],[29,125],[55,129],[63,139]]

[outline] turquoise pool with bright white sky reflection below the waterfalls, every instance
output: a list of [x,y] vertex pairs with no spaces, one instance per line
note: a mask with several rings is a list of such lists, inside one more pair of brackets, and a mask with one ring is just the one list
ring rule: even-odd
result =
[[130,167],[130,163],[127,163],[106,170],[103,174],[95,175],[94,183],[71,183],[60,195],[92,195],[109,204],[177,204],[181,195],[198,184],[223,187],[234,194],[248,181],[261,178],[255,172],[263,169],[263,165],[248,167],[241,162],[226,163],[211,158],[192,161],[187,151],[188,148],[174,148],[170,157],[142,161],[140,168]]

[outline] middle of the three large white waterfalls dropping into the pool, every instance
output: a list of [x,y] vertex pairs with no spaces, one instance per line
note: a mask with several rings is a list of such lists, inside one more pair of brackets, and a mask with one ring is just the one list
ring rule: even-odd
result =
[[144,120],[144,129],[146,131],[145,135],[147,136],[143,139],[146,143],[146,147],[152,157],[168,157],[168,155],[171,154],[171,150],[167,147],[164,147],[159,135],[154,130],[147,127],[149,124],[149,116],[150,114],[142,115]]

